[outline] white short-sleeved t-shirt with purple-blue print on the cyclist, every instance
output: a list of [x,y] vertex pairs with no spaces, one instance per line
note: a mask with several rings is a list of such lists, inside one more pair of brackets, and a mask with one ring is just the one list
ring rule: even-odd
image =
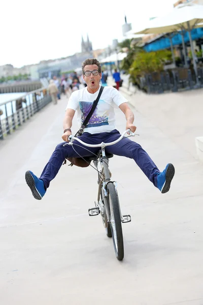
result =
[[[72,93],[66,109],[77,110],[79,127],[81,127],[94,100],[97,98],[99,89],[94,94],[89,93],[87,87]],[[84,132],[93,134],[114,130],[116,128],[114,108],[117,108],[117,106],[126,102],[127,100],[118,92],[117,89],[110,86],[104,87],[96,109],[84,129]]]

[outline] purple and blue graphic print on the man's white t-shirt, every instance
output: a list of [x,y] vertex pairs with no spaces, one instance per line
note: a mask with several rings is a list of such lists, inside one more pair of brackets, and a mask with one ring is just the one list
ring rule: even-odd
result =
[[[90,112],[90,109],[92,107],[92,102],[79,102],[80,110],[82,112],[81,114],[81,120],[82,123],[84,122],[87,114]],[[99,110],[98,110],[98,104],[99,104]],[[103,126],[103,125],[109,125],[108,122],[108,111],[105,109],[105,101],[99,100],[92,116],[90,117],[89,123],[87,124],[86,128],[88,127],[97,127],[97,126]]]

